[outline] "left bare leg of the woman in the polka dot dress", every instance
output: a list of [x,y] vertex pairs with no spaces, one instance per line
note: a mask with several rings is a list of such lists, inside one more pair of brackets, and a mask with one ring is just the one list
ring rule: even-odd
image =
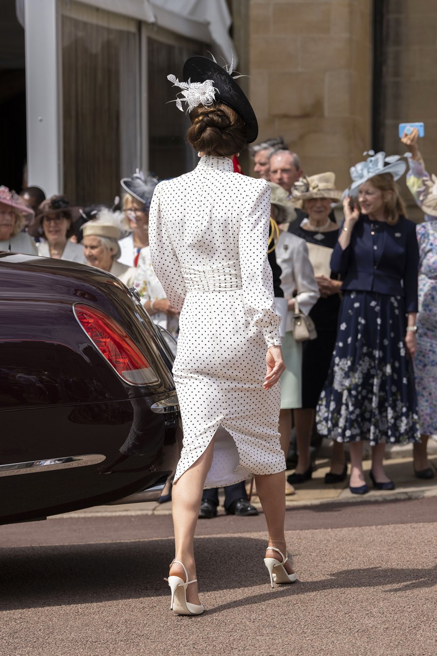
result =
[[[214,438],[208,444],[199,459],[174,483],[172,492],[172,512],[174,525],[175,560],[185,565],[189,581],[196,578],[194,560],[194,533],[199,518],[200,501],[203,486],[212,462],[214,453]],[[179,576],[185,581],[181,565],[170,567],[172,576]],[[197,583],[187,587],[187,601],[190,604],[200,604]]]

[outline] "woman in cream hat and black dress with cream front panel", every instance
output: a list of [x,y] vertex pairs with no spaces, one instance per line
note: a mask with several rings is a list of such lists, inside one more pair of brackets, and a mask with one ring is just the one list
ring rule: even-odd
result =
[[[343,192],[335,188],[335,174],[330,171],[302,177],[292,186],[290,202],[307,214],[302,221],[290,224],[290,232],[305,239],[313,266],[320,298],[309,315],[316,326],[317,337],[302,344],[302,404],[294,411],[297,442],[297,466],[288,482],[299,485],[311,479],[310,445],[316,407],[328,375],[340,308],[341,281],[332,277],[330,259],[337,243],[339,226],[332,220],[332,205]],[[331,470],[326,483],[339,483],[347,476],[343,445],[335,442]]]

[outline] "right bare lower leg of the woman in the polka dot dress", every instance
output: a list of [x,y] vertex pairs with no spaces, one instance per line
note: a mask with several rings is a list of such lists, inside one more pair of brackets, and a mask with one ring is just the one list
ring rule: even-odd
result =
[[[269,546],[275,546],[286,556],[287,545],[284,534],[285,522],[285,473],[255,476],[257,495],[265,514],[267,531],[269,531]],[[268,551],[269,558],[276,558],[280,562],[278,552]],[[284,565],[289,574],[294,572],[289,562]]]

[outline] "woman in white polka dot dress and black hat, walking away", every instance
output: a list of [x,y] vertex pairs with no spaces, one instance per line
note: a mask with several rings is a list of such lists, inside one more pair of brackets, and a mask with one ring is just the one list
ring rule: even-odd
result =
[[183,68],[188,82],[169,76],[183,89],[191,118],[187,140],[200,161],[191,173],[158,184],[149,215],[153,268],[181,311],[174,379],[183,449],[174,478],[176,557],[168,583],[171,607],[183,615],[204,610],[193,550],[204,487],[254,474],[269,529],[271,584],[296,578],[284,537],[277,384],[284,361],[267,260],[270,188],[233,173],[232,157],[256,139],[257,122],[230,73],[192,57]]

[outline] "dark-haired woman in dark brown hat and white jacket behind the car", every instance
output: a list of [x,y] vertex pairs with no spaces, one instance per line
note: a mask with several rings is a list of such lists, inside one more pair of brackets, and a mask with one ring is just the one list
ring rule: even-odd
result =
[[50,196],[39,205],[35,223],[43,228],[47,241],[38,244],[38,255],[86,264],[83,246],[69,239],[73,235],[73,215],[79,215],[78,209],[62,195]]

